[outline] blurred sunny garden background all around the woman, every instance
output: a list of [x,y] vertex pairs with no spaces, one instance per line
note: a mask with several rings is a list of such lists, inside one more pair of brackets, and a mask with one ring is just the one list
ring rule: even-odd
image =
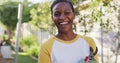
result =
[[[76,13],[74,32],[94,39],[99,63],[120,63],[120,0],[71,1]],[[10,46],[14,63],[37,63],[40,45],[57,33],[50,15],[52,2],[0,0],[0,49]],[[19,4],[23,5],[21,23]]]

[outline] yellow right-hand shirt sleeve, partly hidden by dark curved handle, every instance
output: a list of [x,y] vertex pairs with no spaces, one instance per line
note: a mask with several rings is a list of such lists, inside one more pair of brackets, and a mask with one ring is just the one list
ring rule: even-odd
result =
[[[84,37],[84,39],[88,42],[88,44],[93,48],[95,52],[97,47],[95,41],[90,37]],[[94,56],[94,58],[98,61],[98,53]]]

